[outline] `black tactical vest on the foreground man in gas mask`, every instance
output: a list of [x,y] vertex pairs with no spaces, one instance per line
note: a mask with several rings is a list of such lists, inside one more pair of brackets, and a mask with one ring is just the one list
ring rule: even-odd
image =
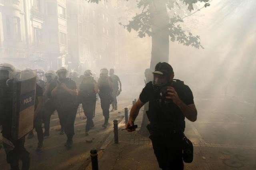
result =
[[[172,100],[165,99],[160,95],[160,89],[155,89],[150,82],[149,106],[146,114],[150,121],[150,128],[152,130],[185,130],[185,117],[180,108],[173,103]],[[184,90],[184,82],[174,79],[174,89],[178,93],[182,101],[186,99],[186,92]]]

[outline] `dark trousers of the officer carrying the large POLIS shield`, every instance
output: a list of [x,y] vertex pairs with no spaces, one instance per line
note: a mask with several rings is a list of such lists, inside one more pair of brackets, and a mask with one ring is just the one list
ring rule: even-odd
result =
[[29,152],[25,149],[25,136],[19,140],[12,140],[7,138],[14,144],[14,148],[4,143],[4,150],[6,152],[6,160],[10,164],[12,170],[19,170],[19,160],[22,161],[22,170],[28,170],[30,166]]

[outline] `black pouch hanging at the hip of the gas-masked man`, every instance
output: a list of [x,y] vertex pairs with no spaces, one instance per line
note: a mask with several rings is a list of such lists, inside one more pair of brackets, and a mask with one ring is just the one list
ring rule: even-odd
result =
[[193,161],[193,144],[192,142],[184,135],[183,136],[183,161],[186,163],[191,163]]

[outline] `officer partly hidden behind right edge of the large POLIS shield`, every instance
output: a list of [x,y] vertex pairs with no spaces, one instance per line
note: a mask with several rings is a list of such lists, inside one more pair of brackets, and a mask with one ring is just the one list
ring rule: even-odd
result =
[[[25,69],[21,72],[32,71],[32,69]],[[38,80],[38,79],[37,79]],[[38,82],[38,81],[37,81]],[[44,98],[43,98],[43,89],[36,83],[36,99],[35,99],[35,107],[34,107],[34,128],[36,129],[37,138],[38,138],[38,146],[36,148],[37,152],[40,152],[43,147],[44,140],[44,132],[42,128],[42,108],[44,106]],[[29,135],[33,134],[33,130],[29,133]],[[33,134],[34,136],[34,134]]]

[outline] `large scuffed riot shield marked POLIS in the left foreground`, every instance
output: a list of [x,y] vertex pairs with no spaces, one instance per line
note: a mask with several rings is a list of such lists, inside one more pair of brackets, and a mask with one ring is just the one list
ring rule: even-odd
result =
[[20,139],[33,130],[36,95],[36,70],[14,77],[12,101],[12,137]]

